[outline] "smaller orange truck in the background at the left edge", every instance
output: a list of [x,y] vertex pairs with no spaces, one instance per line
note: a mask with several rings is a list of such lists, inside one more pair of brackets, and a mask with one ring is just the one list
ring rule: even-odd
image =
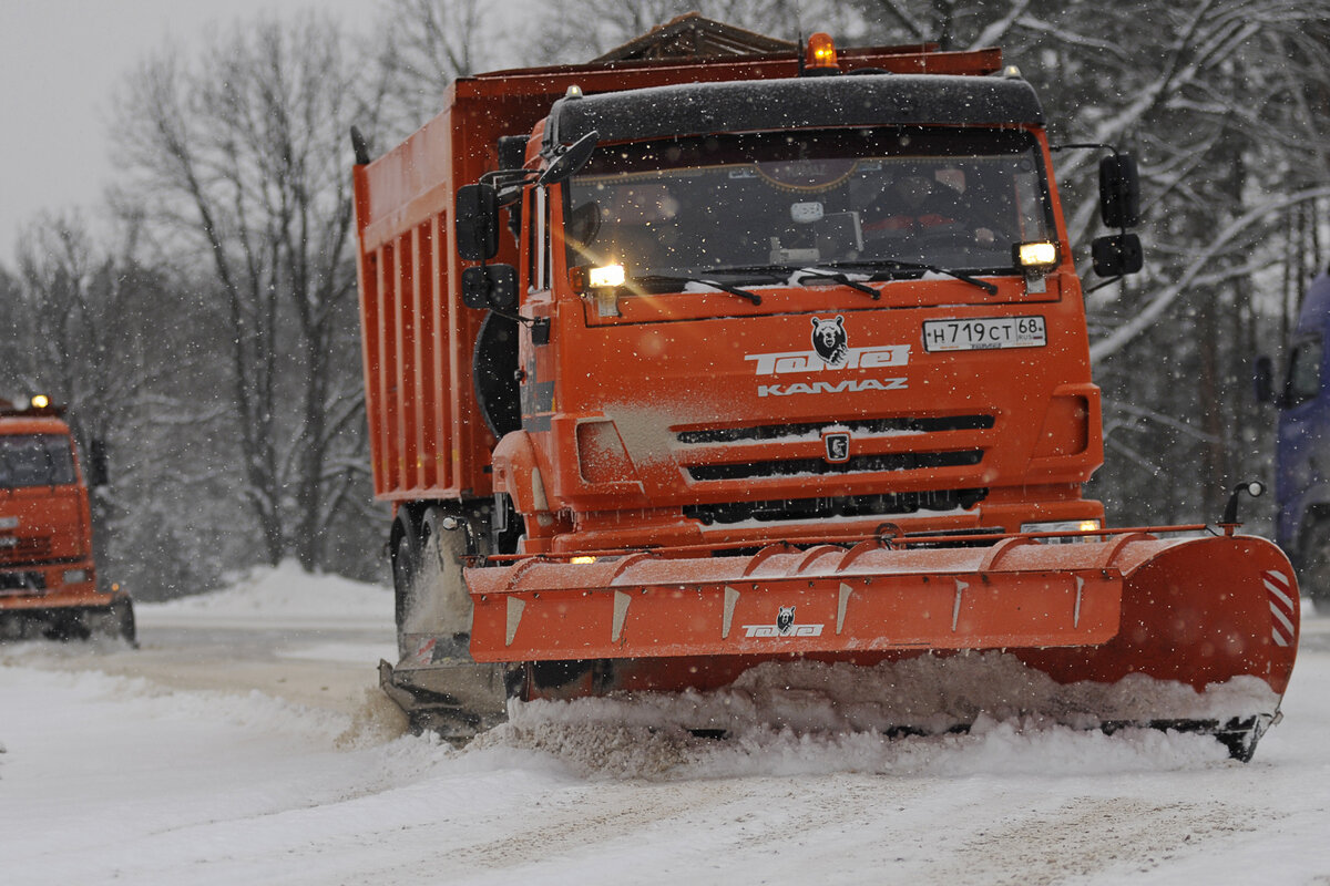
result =
[[[102,588],[93,563],[88,482],[63,409],[0,400],[0,640],[134,642],[126,592]],[[92,469],[98,485],[104,469]]]

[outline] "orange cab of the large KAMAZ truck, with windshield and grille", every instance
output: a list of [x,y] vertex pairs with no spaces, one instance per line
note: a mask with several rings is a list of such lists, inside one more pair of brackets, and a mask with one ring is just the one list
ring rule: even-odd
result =
[[1041,124],[992,74],[557,101],[528,169],[597,149],[507,194],[520,426],[493,478],[520,551],[1099,526]]

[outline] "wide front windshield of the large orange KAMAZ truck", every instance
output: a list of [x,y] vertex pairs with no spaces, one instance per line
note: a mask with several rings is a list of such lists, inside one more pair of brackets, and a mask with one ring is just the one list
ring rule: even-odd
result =
[[602,147],[568,183],[571,266],[630,278],[874,260],[1009,272],[1051,239],[1024,132],[822,130]]

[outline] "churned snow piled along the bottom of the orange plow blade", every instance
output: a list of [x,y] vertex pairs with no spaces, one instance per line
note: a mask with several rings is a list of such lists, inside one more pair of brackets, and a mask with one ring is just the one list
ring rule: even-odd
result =
[[[1256,677],[1205,693],[1142,675],[1060,685],[1000,652],[875,668],[767,663],[714,692],[513,703],[511,721],[469,749],[541,751],[608,778],[1130,772],[1222,760],[1226,751],[1205,735],[1132,727],[1108,736],[1101,724],[1225,720],[1277,704]],[[725,740],[694,733],[704,729]]]

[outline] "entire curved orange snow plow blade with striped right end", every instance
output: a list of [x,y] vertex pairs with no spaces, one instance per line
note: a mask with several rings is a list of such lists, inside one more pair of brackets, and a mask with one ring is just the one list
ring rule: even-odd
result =
[[[871,668],[990,651],[1089,687],[1077,697],[1100,701],[1077,723],[1204,732],[1249,758],[1278,717],[1297,650],[1298,590],[1282,551],[1245,535],[1040,541],[468,569],[471,655],[527,663],[525,697],[576,697],[717,689],[773,660]],[[1115,693],[1127,677],[1170,693]]]

